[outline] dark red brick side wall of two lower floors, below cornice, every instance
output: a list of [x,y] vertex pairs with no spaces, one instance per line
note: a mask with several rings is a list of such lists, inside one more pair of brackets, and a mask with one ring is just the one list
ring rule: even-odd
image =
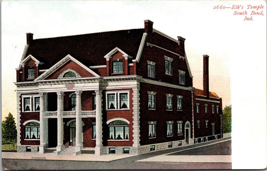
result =
[[[148,109],[148,93],[147,91],[157,92],[156,110]],[[166,94],[173,94],[173,110],[166,110]],[[182,111],[177,111],[177,97],[182,95]],[[192,101],[191,91],[179,90],[158,85],[140,83],[140,144],[152,144],[174,140],[184,139],[184,124],[186,121],[191,123],[192,128]],[[148,121],[157,121],[156,138],[148,138]],[[173,136],[167,137],[166,121],[174,121]],[[183,135],[177,135],[178,125],[176,121],[183,121]],[[192,129],[191,129],[192,136]]]

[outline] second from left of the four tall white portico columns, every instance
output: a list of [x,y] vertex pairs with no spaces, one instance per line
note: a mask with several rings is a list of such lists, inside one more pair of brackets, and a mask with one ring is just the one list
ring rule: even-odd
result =
[[64,92],[57,92],[58,94],[58,145],[57,151],[62,151],[64,149],[63,145],[63,118],[61,117],[63,111],[63,100]]

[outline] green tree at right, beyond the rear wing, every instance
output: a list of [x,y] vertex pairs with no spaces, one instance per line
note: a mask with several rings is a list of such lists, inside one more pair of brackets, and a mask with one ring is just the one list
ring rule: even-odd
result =
[[225,106],[222,111],[223,133],[231,132],[232,127],[232,105]]

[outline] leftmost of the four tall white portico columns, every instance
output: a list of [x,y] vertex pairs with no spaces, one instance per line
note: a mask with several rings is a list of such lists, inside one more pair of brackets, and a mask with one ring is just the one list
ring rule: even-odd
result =
[[40,146],[39,146],[39,153],[45,153],[46,148],[46,140],[45,140],[45,120],[43,118],[43,113],[45,111],[45,96],[46,93],[39,93],[40,96]]

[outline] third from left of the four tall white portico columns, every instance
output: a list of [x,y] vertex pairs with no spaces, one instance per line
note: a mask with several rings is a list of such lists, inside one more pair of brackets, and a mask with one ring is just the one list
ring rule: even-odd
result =
[[81,107],[81,93],[82,91],[76,91],[76,154],[81,152],[82,148],[82,118],[80,117]]

